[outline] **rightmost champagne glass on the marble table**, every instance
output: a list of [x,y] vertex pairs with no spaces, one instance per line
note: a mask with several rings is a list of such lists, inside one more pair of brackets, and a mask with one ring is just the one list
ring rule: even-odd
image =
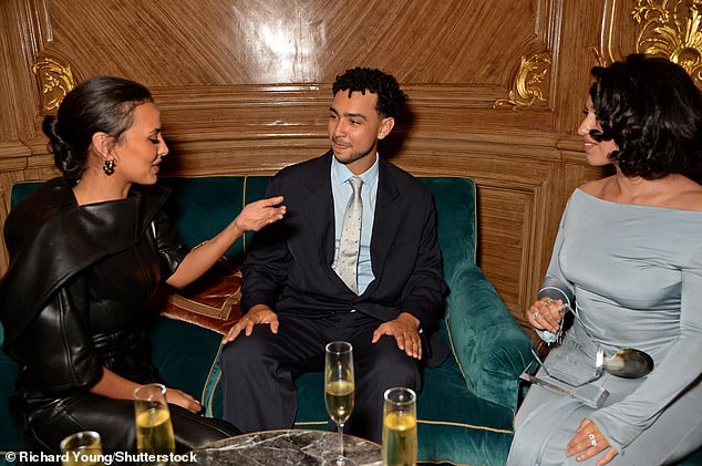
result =
[[382,454],[383,466],[416,465],[416,394],[410,389],[385,391]]

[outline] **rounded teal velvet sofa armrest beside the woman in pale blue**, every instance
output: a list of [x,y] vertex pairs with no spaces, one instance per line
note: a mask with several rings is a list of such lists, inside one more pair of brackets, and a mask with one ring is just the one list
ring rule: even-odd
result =
[[531,361],[531,340],[477,266],[458,267],[448,286],[446,325],[468,389],[516,410],[518,377]]

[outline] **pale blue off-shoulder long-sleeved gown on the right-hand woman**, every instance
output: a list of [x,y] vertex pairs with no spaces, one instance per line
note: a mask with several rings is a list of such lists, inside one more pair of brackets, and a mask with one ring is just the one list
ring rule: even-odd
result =
[[605,372],[591,382],[610,392],[599,410],[533,385],[507,465],[593,465],[603,453],[581,463],[566,457],[585,417],[619,452],[612,466],[674,463],[702,446],[701,211],[617,204],[577,189],[544,296],[577,306],[567,338],[589,349],[580,358],[593,361],[598,344],[606,355],[636,348],[655,367],[637,380]]

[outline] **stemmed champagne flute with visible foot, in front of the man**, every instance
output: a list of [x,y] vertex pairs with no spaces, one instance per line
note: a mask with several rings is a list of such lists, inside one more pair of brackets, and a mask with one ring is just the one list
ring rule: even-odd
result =
[[334,341],[327,345],[324,358],[324,405],[339,429],[339,455],[326,462],[330,466],[354,466],[343,456],[343,425],[353,410],[353,349],[351,343]]

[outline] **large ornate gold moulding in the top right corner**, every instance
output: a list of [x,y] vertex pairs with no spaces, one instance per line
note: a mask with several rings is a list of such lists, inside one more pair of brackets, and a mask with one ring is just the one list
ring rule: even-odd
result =
[[[612,53],[617,0],[608,3],[600,49],[590,48],[601,66],[617,60]],[[637,0],[631,17],[640,24],[637,53],[665,56],[702,83],[702,0],[677,0],[672,4],[669,0]]]

